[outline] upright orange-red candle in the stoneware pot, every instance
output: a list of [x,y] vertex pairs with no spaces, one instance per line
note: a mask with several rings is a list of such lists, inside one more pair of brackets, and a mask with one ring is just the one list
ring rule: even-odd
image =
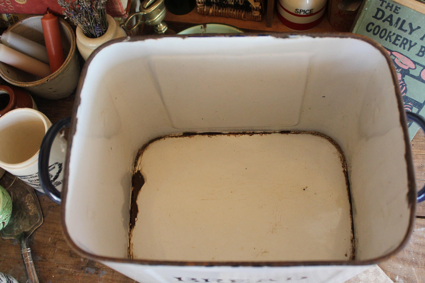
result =
[[50,70],[54,73],[65,62],[62,41],[60,40],[59,23],[57,17],[47,11],[47,14],[41,18],[41,25],[44,41],[46,42]]

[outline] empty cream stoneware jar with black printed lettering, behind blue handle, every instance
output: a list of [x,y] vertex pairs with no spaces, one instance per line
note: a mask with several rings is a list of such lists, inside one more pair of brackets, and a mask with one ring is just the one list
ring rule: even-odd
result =
[[[43,192],[38,173],[42,139],[51,126],[49,119],[31,108],[11,110],[0,117],[0,167]],[[62,190],[66,140],[54,139],[48,173],[57,190]]]

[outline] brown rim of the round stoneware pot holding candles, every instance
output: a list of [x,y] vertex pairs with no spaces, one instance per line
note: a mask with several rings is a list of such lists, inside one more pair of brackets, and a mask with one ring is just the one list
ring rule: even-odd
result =
[[[36,16],[25,17],[23,19],[20,19],[19,21],[17,21],[13,25],[11,25],[7,29],[7,31],[12,31],[13,32],[14,29],[18,25],[22,24],[23,22],[28,21],[31,18],[34,18],[34,19],[39,18],[40,19],[40,26],[41,26],[41,18],[42,17],[43,17],[43,15],[36,15]],[[9,78],[9,76],[7,74],[7,71],[5,71],[4,70],[4,67],[3,67],[3,65],[7,65],[7,64],[0,62],[0,76],[6,82],[11,83],[12,85],[16,85],[16,86],[22,87],[22,88],[34,87],[34,86],[45,84],[45,83],[49,82],[50,80],[55,79],[56,77],[58,77],[59,75],[61,75],[66,68],[68,68],[69,64],[71,63],[72,57],[74,57],[74,54],[75,54],[75,51],[76,51],[76,48],[77,48],[77,41],[75,39],[74,30],[71,28],[71,26],[65,20],[63,20],[60,17],[58,17],[58,21],[61,24],[61,26],[63,28],[65,28],[65,31],[67,31],[67,34],[65,35],[65,37],[67,38],[67,40],[68,40],[68,37],[69,37],[69,40],[70,40],[70,42],[69,42],[70,45],[69,45],[68,56],[65,58],[65,61],[63,62],[62,66],[60,66],[60,68],[57,69],[54,73],[52,73],[52,74],[50,74],[50,75],[48,75],[48,76],[46,76],[46,77],[44,77],[42,79],[39,79],[39,80],[36,80],[36,81],[32,81],[32,82],[22,82],[22,81],[17,81],[17,80],[14,80],[14,79]]]

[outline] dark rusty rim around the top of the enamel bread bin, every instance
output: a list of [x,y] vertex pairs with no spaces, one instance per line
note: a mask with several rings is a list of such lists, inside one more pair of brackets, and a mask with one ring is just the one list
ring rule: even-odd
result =
[[[354,38],[363,40],[370,45],[372,45],[374,48],[380,51],[380,53],[385,57],[388,67],[391,71],[391,76],[393,79],[394,84],[394,92],[396,94],[397,99],[397,106],[399,110],[399,121],[400,125],[403,129],[403,136],[405,141],[405,161],[407,166],[407,177],[408,177],[408,194],[407,194],[407,200],[408,200],[408,206],[410,207],[410,219],[409,219],[409,225],[406,231],[406,234],[401,241],[401,243],[391,252],[388,252],[385,255],[379,256],[377,258],[368,259],[368,260],[299,260],[299,261],[178,261],[178,260],[147,260],[147,259],[130,259],[130,258],[113,258],[113,257],[107,257],[107,256],[100,256],[95,255],[90,252],[87,252],[80,248],[74,241],[71,239],[71,236],[68,232],[68,228],[65,225],[65,207],[66,207],[66,197],[68,193],[68,165],[69,165],[69,158],[72,148],[72,142],[68,142],[68,148],[66,153],[66,161],[65,161],[65,170],[64,170],[64,181],[63,181],[63,187],[62,187],[62,207],[61,207],[61,222],[62,222],[62,231],[65,235],[65,240],[68,242],[68,244],[73,248],[77,253],[79,253],[81,256],[85,258],[89,258],[92,260],[100,261],[100,262],[115,262],[115,263],[133,263],[133,264],[140,264],[140,265],[157,265],[157,266],[271,266],[271,267],[279,267],[279,266],[331,266],[331,265],[338,265],[338,266],[360,266],[360,265],[371,265],[374,263],[377,263],[378,261],[385,260],[387,258],[390,258],[392,255],[399,252],[409,241],[410,235],[413,231],[414,227],[414,218],[415,218],[415,207],[416,207],[416,183],[415,183],[415,176],[414,176],[414,170],[413,170],[413,158],[410,148],[410,139],[407,129],[407,120],[404,115],[404,105],[402,101],[401,92],[398,86],[398,79],[396,75],[396,71],[394,69],[393,63],[385,49],[375,42],[374,40],[371,40],[368,37],[358,35],[358,34],[351,34],[351,33],[344,33],[344,32],[335,32],[335,33],[309,33],[309,34],[295,34],[291,32],[287,33],[275,33],[275,32],[264,32],[264,33],[252,33],[252,34],[192,34],[192,35],[170,35],[170,36],[164,36],[164,37],[252,37],[252,36],[272,36],[276,38],[295,38],[300,36],[306,36],[306,37],[312,37],[312,38],[325,38],[325,37],[334,37],[334,38]],[[117,43],[117,42],[136,42],[136,41],[144,41],[144,40],[150,40],[150,39],[158,39],[157,36],[135,36],[135,37],[127,37],[127,38],[121,38],[116,40],[111,40],[110,42],[105,43],[100,48],[97,48],[88,58],[86,61],[87,64],[84,65],[81,77],[77,86],[77,93],[76,93],[76,99],[74,103],[74,109],[73,109],[73,115],[71,119],[71,128],[69,132],[69,141],[72,141],[72,138],[76,132],[77,127],[77,109],[79,107],[79,104],[81,102],[81,89],[83,86],[84,78],[87,74],[88,66],[90,65],[91,60],[93,57],[101,51],[102,48],[107,47],[108,45]]]

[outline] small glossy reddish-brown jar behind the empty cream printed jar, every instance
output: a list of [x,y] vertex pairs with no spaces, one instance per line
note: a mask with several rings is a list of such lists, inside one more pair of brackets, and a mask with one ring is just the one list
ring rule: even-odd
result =
[[0,116],[16,108],[37,110],[37,105],[31,95],[22,88],[0,85]]

